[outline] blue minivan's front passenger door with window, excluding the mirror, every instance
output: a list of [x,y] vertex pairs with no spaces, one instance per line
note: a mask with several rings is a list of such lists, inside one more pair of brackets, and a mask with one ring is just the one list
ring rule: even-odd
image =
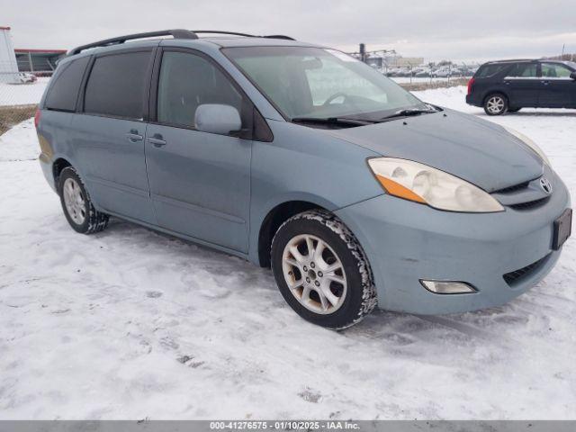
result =
[[251,127],[247,98],[195,51],[164,49],[157,67],[156,121],[148,124],[146,160],[158,224],[247,252],[252,141],[194,128],[202,103],[229,104],[240,112],[242,127]]

